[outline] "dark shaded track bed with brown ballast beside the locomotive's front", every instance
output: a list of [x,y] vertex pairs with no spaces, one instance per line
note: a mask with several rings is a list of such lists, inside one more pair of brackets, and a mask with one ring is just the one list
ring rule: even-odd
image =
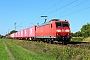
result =
[[87,48],[90,49],[90,42],[70,42],[68,44],[62,44],[62,43],[55,43],[57,46],[66,46],[71,48]]

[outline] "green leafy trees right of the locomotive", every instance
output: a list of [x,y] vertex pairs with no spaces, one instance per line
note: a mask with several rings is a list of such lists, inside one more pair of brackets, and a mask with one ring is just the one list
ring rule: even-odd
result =
[[87,23],[82,26],[80,31],[77,31],[75,33],[71,32],[72,37],[89,37],[90,36],[90,24]]

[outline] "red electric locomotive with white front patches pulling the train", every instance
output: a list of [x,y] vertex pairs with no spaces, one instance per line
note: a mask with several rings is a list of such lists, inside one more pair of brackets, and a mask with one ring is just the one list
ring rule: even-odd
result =
[[44,42],[70,42],[70,24],[67,20],[53,19],[36,27],[36,38]]

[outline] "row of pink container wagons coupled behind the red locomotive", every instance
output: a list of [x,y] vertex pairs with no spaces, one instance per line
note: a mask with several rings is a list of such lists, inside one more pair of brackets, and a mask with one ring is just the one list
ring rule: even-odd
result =
[[[36,37],[36,26],[32,26],[16,33],[10,34],[9,38],[16,38],[16,39],[24,39],[24,40],[31,40],[35,39]],[[8,36],[7,36],[8,37]]]

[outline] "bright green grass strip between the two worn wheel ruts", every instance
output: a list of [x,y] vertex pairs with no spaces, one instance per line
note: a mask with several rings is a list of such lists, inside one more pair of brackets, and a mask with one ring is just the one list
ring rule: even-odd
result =
[[5,40],[7,43],[8,48],[10,49],[11,53],[15,57],[15,60],[41,60],[34,55],[27,53],[26,51],[18,48],[15,44],[11,43],[9,40]]

